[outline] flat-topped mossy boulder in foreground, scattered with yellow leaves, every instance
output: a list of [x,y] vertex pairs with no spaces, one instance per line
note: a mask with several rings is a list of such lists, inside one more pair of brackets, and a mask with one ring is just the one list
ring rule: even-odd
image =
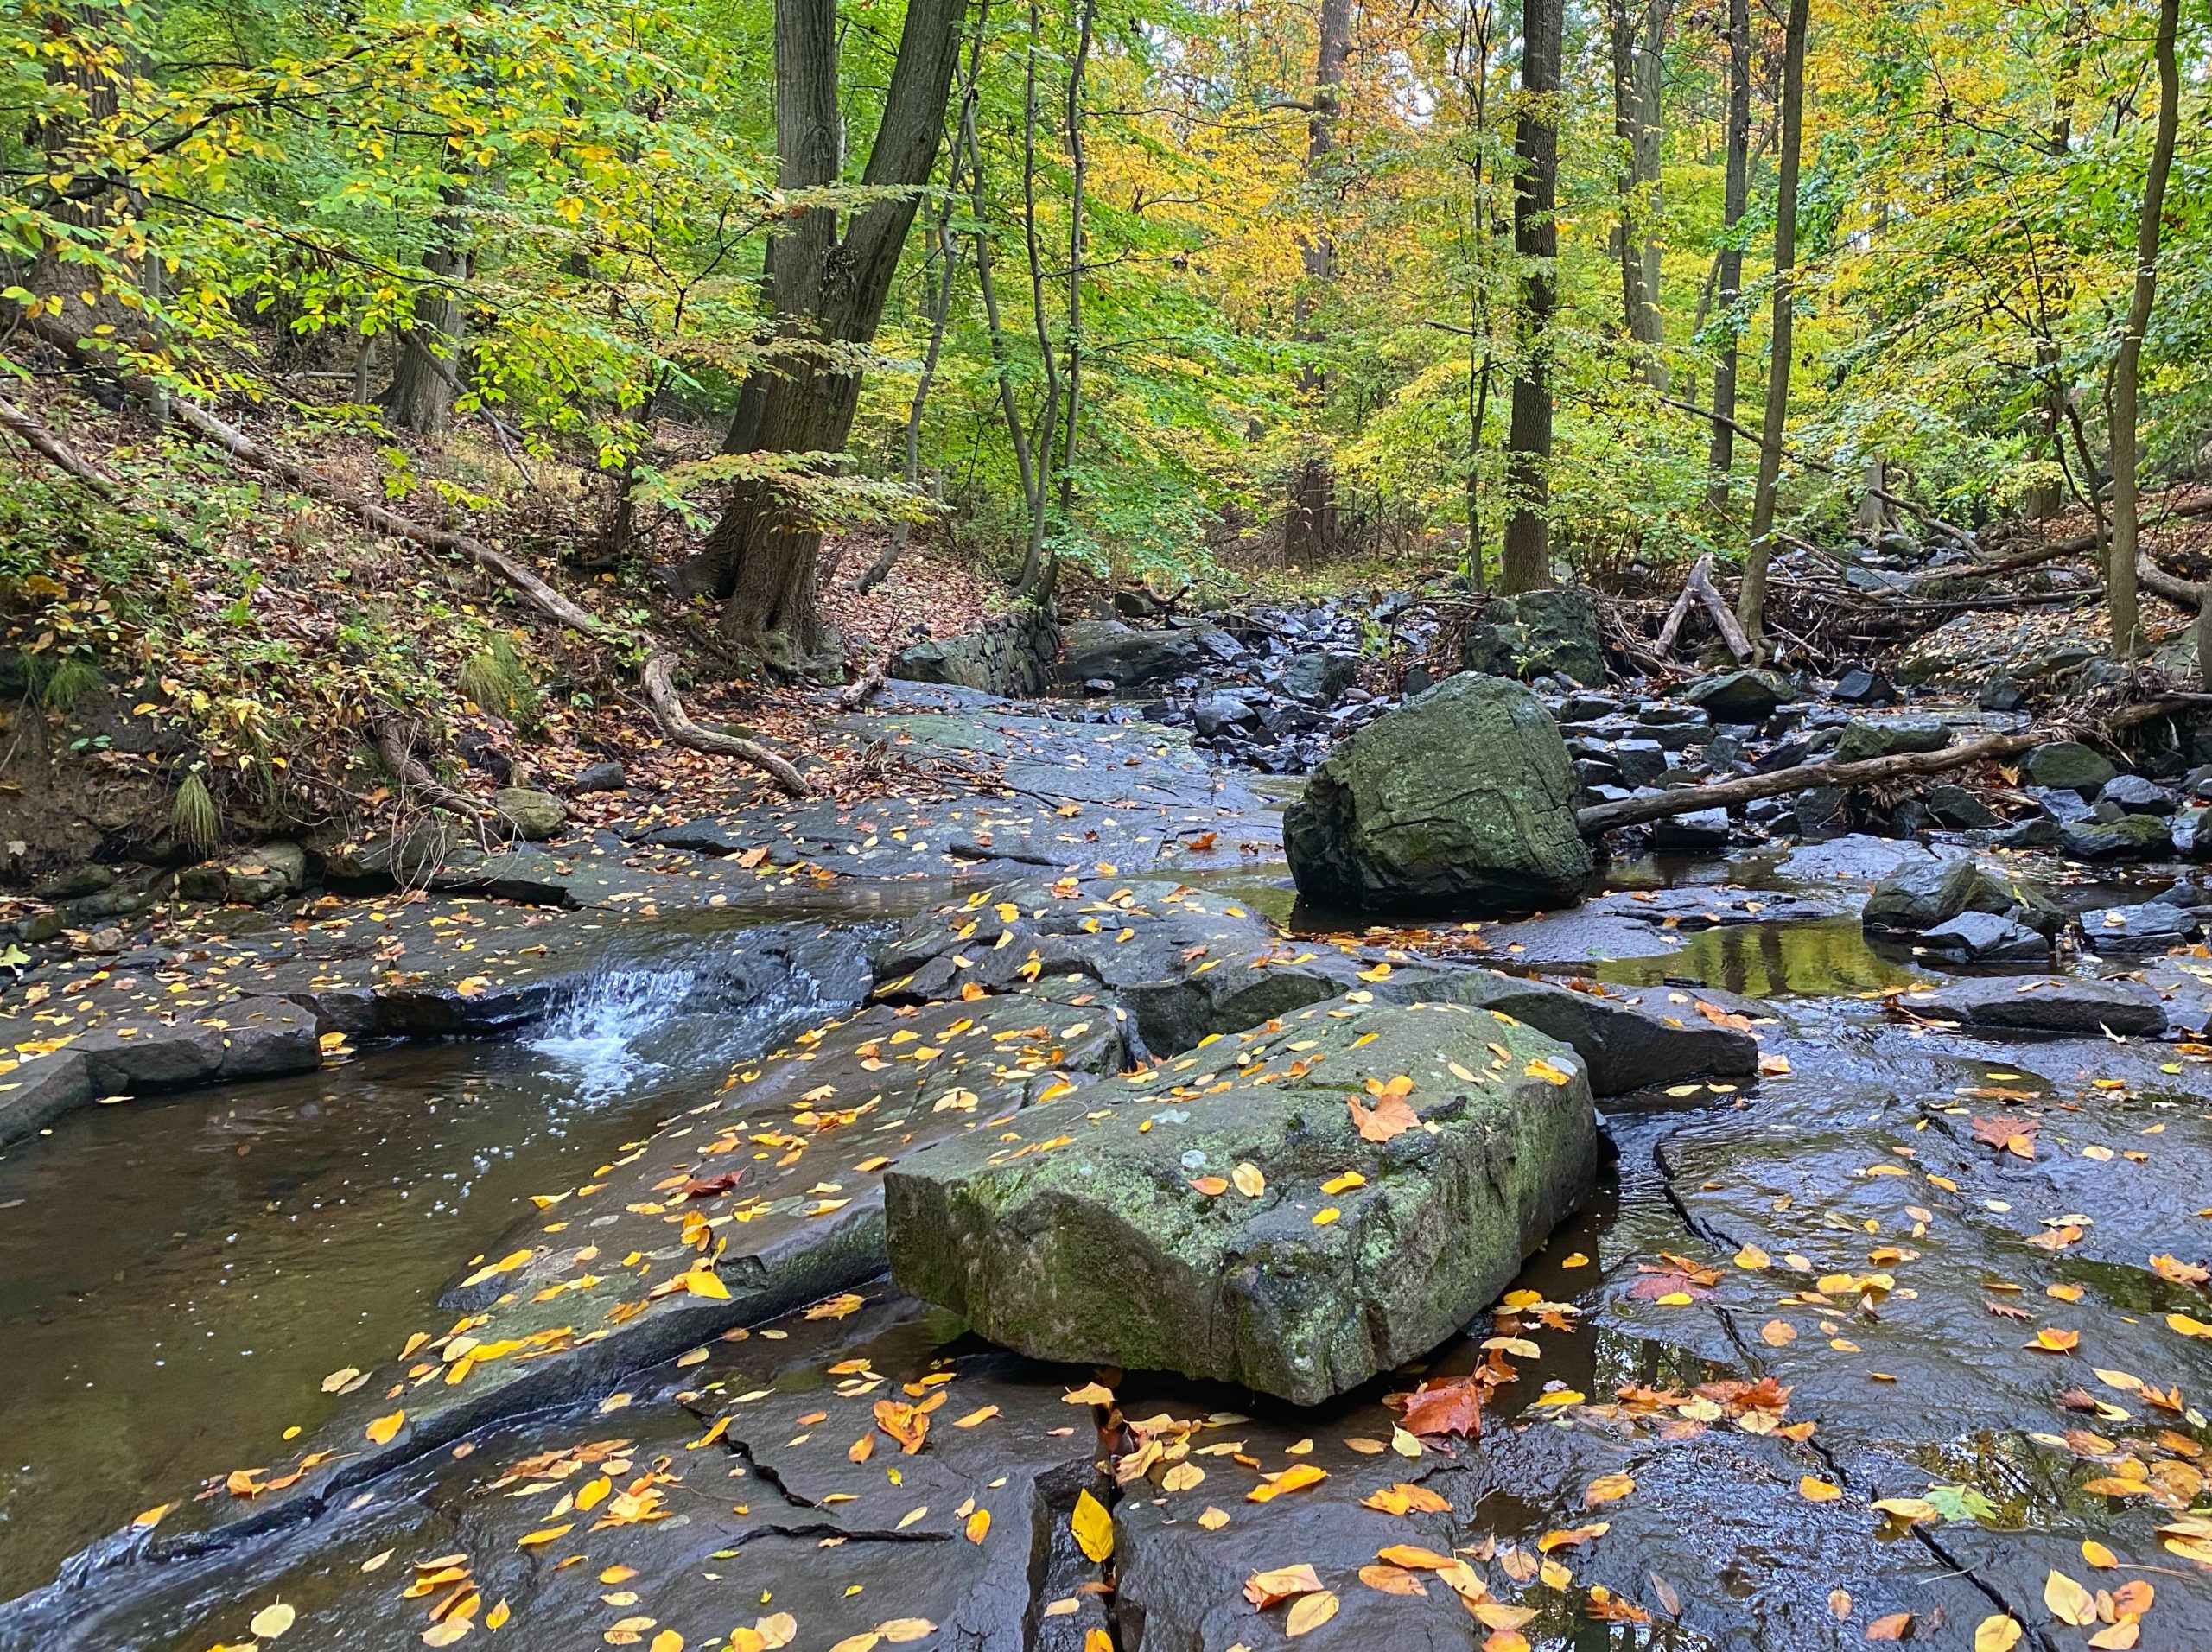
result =
[[1571,1048],[1343,997],[911,1154],[885,1221],[993,1342],[1316,1404],[1460,1331],[1595,1174]]

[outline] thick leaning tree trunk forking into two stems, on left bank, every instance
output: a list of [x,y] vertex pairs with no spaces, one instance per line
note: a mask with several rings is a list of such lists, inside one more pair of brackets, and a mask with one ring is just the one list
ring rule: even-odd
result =
[[[772,294],[794,345],[869,343],[914,223],[918,190],[945,139],[945,104],[960,60],[964,0],[914,0],[869,146],[865,188],[896,190],[852,212],[843,237],[830,206],[790,217],[774,243]],[[841,175],[836,0],[776,0],[776,184],[816,190]],[[759,389],[754,383],[759,380]],[[748,405],[750,402],[750,405]],[[728,451],[843,453],[860,376],[807,349],[783,352],[745,380]],[[743,447],[732,449],[732,442]],[[821,531],[792,513],[772,482],[732,491],[701,560],[723,593],[721,632],[792,668],[821,648],[814,564]]]

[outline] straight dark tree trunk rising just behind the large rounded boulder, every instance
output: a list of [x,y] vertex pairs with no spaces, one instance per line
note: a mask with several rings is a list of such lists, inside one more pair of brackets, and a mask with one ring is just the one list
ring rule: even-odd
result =
[[[1803,4],[1803,0],[1801,0]],[[1559,33],[1562,0],[1522,7],[1522,106],[1513,122],[1513,252],[1522,261],[1520,367],[1506,433],[1506,540],[1500,588],[1551,582],[1551,318],[1559,305]]]

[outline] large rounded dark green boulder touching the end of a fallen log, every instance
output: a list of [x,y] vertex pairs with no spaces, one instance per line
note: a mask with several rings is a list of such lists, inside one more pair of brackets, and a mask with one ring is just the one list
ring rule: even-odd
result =
[[1345,911],[1571,905],[1590,876],[1575,770],[1528,688],[1460,672],[1329,754],[1283,814],[1298,893]]

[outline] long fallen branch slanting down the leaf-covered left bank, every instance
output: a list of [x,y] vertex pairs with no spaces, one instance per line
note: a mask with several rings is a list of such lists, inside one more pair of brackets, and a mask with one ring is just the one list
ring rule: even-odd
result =
[[[150,400],[153,396],[161,394],[161,387],[155,385],[155,380],[146,378],[144,374],[126,372],[115,363],[102,360],[97,354],[88,352],[86,343],[77,334],[62,327],[51,316],[29,318],[27,325],[38,338],[64,352],[73,360],[100,367],[133,396]],[[630,641],[622,630],[608,626],[595,613],[577,606],[560,590],[549,586],[544,579],[540,579],[535,573],[524,568],[520,562],[504,555],[502,551],[493,551],[482,540],[467,533],[451,533],[449,529],[434,529],[427,522],[416,522],[414,517],[400,515],[398,511],[392,511],[363,493],[354,493],[349,487],[343,487],[330,480],[327,475],[307,469],[305,464],[283,458],[268,442],[248,436],[246,431],[217,418],[215,414],[210,414],[206,407],[201,407],[190,398],[170,396],[168,407],[170,416],[201,440],[212,442],[232,458],[252,464],[254,469],[281,478],[290,487],[296,487],[301,493],[321,500],[323,504],[336,506],[347,515],[365,522],[367,526],[394,535],[396,540],[407,540],[411,544],[420,544],[431,551],[453,551],[460,557],[473,562],[484,573],[498,575],[526,604],[538,608],[538,613],[546,615],[549,619],[571,626],[573,630],[582,630],[584,635],[595,637],[597,641],[604,644],[622,646]],[[7,422],[4,416],[0,416],[0,422]],[[31,422],[35,425],[35,420]],[[9,422],[9,429],[15,429],[15,425]],[[33,447],[40,447],[31,433],[24,433],[24,440],[31,440]],[[55,458],[55,453],[49,453],[44,447],[40,447],[40,451],[46,453],[49,458]],[[64,460],[55,458],[55,462],[64,464],[66,469]],[[664,659],[666,668],[661,670],[659,681],[655,683],[653,666],[661,663]],[[741,759],[759,770],[765,770],[768,776],[774,778],[774,783],[781,785],[792,796],[807,794],[807,783],[799,776],[799,770],[794,770],[785,759],[770,752],[765,745],[759,745],[757,741],[741,741],[732,734],[717,734],[714,730],[695,723],[690,714],[684,710],[684,699],[677,694],[675,683],[670,681],[672,668],[675,668],[672,655],[655,655],[653,661],[648,661],[646,666],[646,699],[653,705],[653,719],[661,725],[661,732],[668,734],[668,739],[677,741],[679,745],[688,745],[697,752]],[[429,778],[427,770],[422,774],[425,778]],[[431,785],[436,785],[436,781],[431,781]],[[451,796],[460,798],[465,794],[453,792]]]

